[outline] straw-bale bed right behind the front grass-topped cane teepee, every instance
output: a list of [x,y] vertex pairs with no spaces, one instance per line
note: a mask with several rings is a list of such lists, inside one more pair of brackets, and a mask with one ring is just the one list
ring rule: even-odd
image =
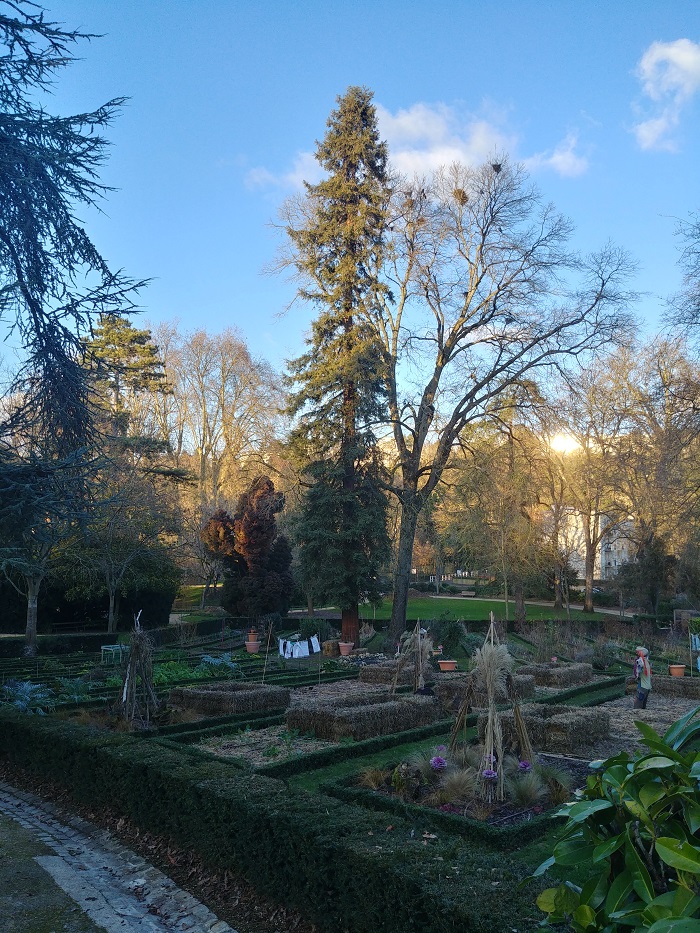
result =
[[[528,704],[520,711],[537,751],[573,752],[610,735],[610,716],[602,709]],[[516,747],[518,739],[512,711],[501,713],[501,727],[504,745]],[[483,739],[485,715],[479,716],[478,729],[479,737]]]

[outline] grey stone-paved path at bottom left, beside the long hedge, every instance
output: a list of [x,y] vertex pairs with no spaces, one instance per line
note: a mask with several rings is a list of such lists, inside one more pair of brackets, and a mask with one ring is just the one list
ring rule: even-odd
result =
[[[204,904],[178,888],[158,869],[132,852],[108,832],[77,816],[59,815],[56,808],[33,794],[0,781],[0,814],[28,833],[38,848],[51,854],[27,855],[78,905],[88,926],[75,929],[108,933],[235,933]],[[2,851],[0,861],[17,860],[19,849]],[[31,873],[15,872],[12,890],[0,900],[0,933],[25,933],[19,919],[21,905],[37,895],[41,884]],[[41,879],[45,881],[47,879]],[[15,890],[15,887],[27,890]],[[16,905],[8,910],[10,905]],[[31,910],[29,915],[31,916]],[[58,919],[58,918],[56,918]],[[25,924],[25,925],[18,925]],[[51,925],[41,929],[52,931]],[[57,925],[60,930],[73,925]],[[52,931],[54,933],[54,931]]]

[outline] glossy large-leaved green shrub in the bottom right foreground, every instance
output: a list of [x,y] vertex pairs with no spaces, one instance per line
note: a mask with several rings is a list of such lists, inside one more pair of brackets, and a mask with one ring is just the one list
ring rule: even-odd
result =
[[533,875],[554,865],[590,872],[581,888],[565,882],[540,894],[551,922],[578,933],[700,929],[699,711],[663,737],[637,722],[648,752],[592,763],[579,799],[557,814],[568,819],[553,855]]

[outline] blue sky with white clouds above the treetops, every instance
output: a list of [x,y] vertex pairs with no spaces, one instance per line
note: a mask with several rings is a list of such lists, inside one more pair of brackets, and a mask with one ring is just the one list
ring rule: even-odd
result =
[[576,226],[640,265],[654,328],[680,273],[677,218],[700,209],[698,0],[46,0],[102,33],[48,109],[130,101],[109,136],[116,191],[85,224],[114,267],[152,277],[145,319],[237,327],[281,367],[309,311],[263,274],[280,202],[314,179],[335,98],[370,87],[395,163],[488,157],[529,167]]

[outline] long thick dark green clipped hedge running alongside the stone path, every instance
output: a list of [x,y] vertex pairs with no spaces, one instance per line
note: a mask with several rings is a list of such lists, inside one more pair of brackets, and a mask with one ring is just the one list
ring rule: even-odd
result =
[[[427,823],[392,818],[325,794],[48,717],[0,714],[0,754],[172,838],[209,864],[247,877],[323,931],[491,933],[526,929],[517,890],[527,869],[459,837],[424,838]],[[540,887],[539,883],[533,888]]]

